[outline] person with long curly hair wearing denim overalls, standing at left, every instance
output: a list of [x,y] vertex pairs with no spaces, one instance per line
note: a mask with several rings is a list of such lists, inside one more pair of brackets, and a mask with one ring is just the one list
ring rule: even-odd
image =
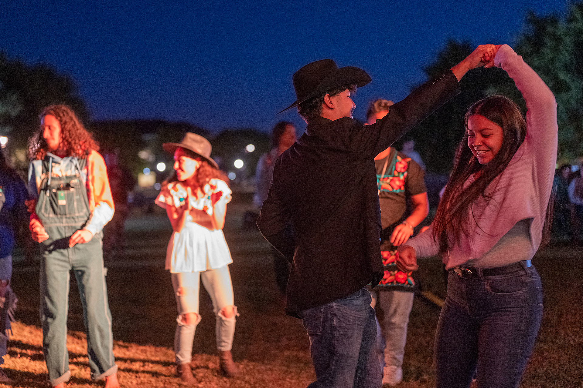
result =
[[65,105],[47,106],[29,139],[29,229],[41,244],[40,316],[43,354],[52,386],[71,378],[66,347],[69,276],[74,270],[87,331],[93,380],[117,388],[111,312],[101,240],[114,213],[107,169],[99,147]]

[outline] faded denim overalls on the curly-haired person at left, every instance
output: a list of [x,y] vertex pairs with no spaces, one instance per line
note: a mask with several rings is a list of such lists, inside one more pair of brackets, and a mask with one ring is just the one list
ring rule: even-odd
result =
[[38,281],[43,353],[52,386],[68,381],[71,376],[66,347],[71,270],[75,272],[83,305],[91,377],[98,380],[117,372],[101,251],[103,233],[69,248],[69,238],[85,226],[90,216],[82,176],[86,161],[48,153],[42,162],[43,180],[36,213],[49,237],[41,243],[43,258]]

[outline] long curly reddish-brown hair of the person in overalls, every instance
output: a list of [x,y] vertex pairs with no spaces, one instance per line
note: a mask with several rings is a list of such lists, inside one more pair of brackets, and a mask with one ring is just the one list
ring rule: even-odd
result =
[[[73,109],[66,105],[49,105],[38,115],[42,120],[44,116],[51,115],[61,124],[61,143],[59,151],[63,151],[66,156],[76,156],[86,158],[94,149],[99,151],[99,143],[94,140],[93,135],[88,132],[83,123],[79,120]],[[47,142],[43,138],[43,127],[38,126],[33,136],[29,138],[29,158],[43,159],[47,155]]]

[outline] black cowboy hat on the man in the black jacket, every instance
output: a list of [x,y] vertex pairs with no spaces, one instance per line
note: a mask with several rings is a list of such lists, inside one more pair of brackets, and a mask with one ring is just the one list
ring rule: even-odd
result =
[[322,59],[297,70],[291,81],[296,90],[296,102],[279,113],[342,85],[356,84],[359,88],[363,87],[371,81],[371,78],[367,72],[358,67],[346,66],[339,69],[332,59]]

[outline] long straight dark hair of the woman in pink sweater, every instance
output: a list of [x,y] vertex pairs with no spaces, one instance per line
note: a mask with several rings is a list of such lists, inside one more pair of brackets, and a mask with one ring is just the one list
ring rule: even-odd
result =
[[[500,151],[487,165],[480,165],[468,147],[468,119],[472,115],[482,115],[503,130]],[[448,234],[454,237],[453,243],[456,244],[461,241],[462,236],[468,237],[476,232],[469,222],[471,212],[475,225],[479,227],[479,222],[473,215],[473,203],[479,197],[484,198],[486,204],[490,201],[494,192],[487,191],[487,187],[504,172],[526,137],[526,122],[520,109],[510,98],[501,95],[491,95],[470,105],[463,121],[466,133],[456,149],[454,170],[433,220],[433,238],[439,241],[441,254],[449,248]],[[477,172],[480,174],[476,180],[462,190],[463,183]]]

